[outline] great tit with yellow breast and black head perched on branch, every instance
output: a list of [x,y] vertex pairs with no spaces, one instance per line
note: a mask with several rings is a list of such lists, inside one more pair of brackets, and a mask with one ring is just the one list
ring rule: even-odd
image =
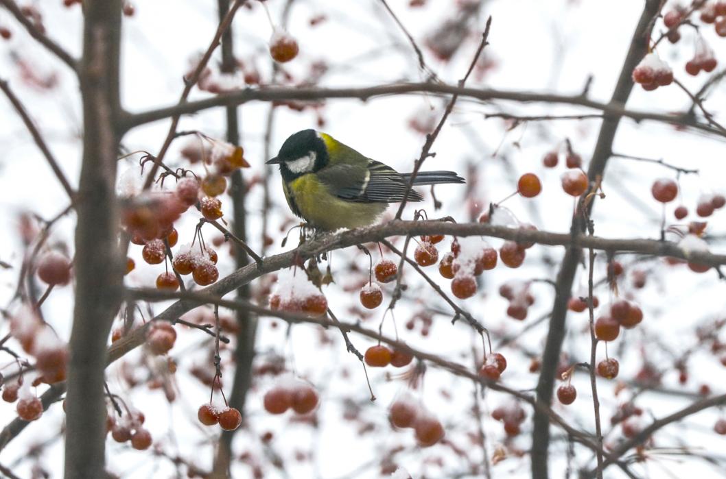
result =
[[[318,230],[371,225],[389,203],[403,201],[411,173],[399,173],[387,164],[315,130],[302,130],[282,143],[277,157],[282,189],[290,209]],[[465,183],[452,171],[420,171],[413,184]],[[407,201],[423,196],[410,190]]]

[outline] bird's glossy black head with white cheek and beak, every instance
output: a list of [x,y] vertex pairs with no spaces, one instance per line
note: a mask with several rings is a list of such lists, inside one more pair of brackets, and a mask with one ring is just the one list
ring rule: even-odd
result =
[[280,164],[282,178],[290,181],[316,172],[327,162],[325,141],[315,130],[302,130],[287,138],[277,157],[270,159],[267,164]]

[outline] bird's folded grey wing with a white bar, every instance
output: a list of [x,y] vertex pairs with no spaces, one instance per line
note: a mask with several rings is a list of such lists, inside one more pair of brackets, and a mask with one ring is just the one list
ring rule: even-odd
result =
[[[362,203],[403,201],[407,186],[407,178],[401,173],[375,160],[370,160],[364,171],[359,167],[339,164],[319,170],[318,175],[338,198]],[[411,190],[408,199],[420,201],[423,197]]]

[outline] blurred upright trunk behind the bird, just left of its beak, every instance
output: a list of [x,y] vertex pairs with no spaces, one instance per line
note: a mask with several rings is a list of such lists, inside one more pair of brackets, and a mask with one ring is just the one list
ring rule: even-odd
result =
[[[217,0],[219,9],[219,21],[224,21],[224,16],[229,11],[229,0]],[[234,60],[234,44],[232,43],[232,25],[229,25],[221,38],[221,70],[225,73],[232,73],[237,68]],[[240,125],[237,114],[237,106],[229,106],[225,111],[227,117],[227,141],[240,143]],[[245,178],[240,170],[232,173],[232,205],[234,207],[232,232],[234,236],[242,241],[247,241],[247,212]],[[237,268],[248,265],[250,259],[244,249],[236,247],[235,262]],[[247,301],[250,298],[250,286],[248,284],[237,288],[237,298]],[[234,349],[234,378],[232,380],[232,393],[229,396],[229,406],[245,414],[245,399],[250,388],[252,378],[252,360],[255,354],[255,336],[257,331],[257,318],[250,317],[245,309],[237,309],[235,312],[239,333],[237,333],[237,346]],[[216,458],[213,466],[213,478],[227,478],[229,462],[232,458],[232,438],[234,430],[225,430],[219,440]]]

